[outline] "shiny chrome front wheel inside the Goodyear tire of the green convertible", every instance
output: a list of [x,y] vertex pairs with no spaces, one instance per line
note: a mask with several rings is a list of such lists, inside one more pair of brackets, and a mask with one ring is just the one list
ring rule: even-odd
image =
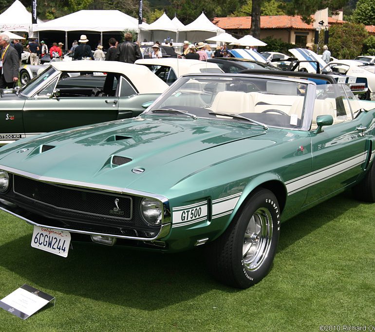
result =
[[247,224],[242,256],[248,271],[254,271],[267,258],[272,240],[272,216],[266,208],[260,208]]

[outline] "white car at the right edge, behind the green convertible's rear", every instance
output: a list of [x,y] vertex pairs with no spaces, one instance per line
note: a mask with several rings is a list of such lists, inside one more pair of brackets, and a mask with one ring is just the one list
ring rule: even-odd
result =
[[375,63],[358,60],[336,60],[331,61],[322,71],[333,71],[343,75],[356,76],[357,82],[366,84],[368,90],[359,99],[375,101]]

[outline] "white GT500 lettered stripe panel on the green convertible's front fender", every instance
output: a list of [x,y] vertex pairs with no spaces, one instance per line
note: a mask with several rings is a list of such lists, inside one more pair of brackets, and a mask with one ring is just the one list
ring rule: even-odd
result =
[[207,201],[172,209],[172,227],[181,227],[207,219]]

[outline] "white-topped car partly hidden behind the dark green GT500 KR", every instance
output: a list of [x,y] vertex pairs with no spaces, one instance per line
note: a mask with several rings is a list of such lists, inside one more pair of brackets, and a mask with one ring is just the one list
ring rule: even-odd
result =
[[171,85],[177,80],[177,78],[185,74],[224,72],[216,63],[189,59],[140,59],[135,61],[135,64],[148,67],[156,76],[161,78],[168,85]]

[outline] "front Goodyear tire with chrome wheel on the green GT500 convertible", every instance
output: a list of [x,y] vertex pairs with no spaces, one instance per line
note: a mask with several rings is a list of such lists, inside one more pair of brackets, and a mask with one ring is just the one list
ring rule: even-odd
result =
[[253,192],[235,219],[207,247],[207,263],[217,280],[248,288],[270,270],[280,236],[280,208],[266,189]]

